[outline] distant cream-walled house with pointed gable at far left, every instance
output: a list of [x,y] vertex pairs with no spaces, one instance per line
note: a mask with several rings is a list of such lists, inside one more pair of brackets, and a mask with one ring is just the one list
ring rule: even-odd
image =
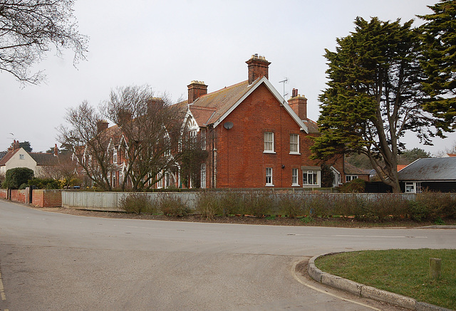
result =
[[[57,147],[56,147],[57,148]],[[19,141],[14,140],[8,152],[0,159],[0,174],[6,174],[9,169],[16,167],[28,167],[35,176],[43,173],[43,168],[55,165],[58,162],[58,154],[54,153],[26,152],[19,146]]]

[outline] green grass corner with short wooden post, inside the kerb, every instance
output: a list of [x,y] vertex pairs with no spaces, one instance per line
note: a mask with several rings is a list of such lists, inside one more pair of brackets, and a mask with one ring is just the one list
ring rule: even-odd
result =
[[[429,258],[442,259],[442,274],[429,276]],[[356,251],[316,260],[324,272],[418,301],[456,310],[456,250]]]

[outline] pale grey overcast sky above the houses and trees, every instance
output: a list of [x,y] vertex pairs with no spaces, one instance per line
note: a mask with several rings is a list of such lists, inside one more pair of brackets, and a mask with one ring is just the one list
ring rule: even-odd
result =
[[[279,93],[308,98],[308,115],[318,119],[318,95],[326,88],[324,49],[353,31],[356,16],[383,21],[419,19],[438,0],[77,0],[79,31],[90,37],[88,60],[73,67],[73,53],[54,53],[34,68],[45,69],[46,84],[21,88],[0,72],[0,151],[13,139],[46,151],[57,141],[56,127],[68,107],[83,100],[97,106],[118,86],[147,84],[176,101],[187,85],[201,80],[208,92],[247,80],[246,60],[254,53],[271,62],[269,80]],[[279,81],[288,78],[285,85]],[[288,96],[286,96],[288,98]],[[12,134],[11,134],[12,133]],[[407,135],[406,147],[434,154],[456,135],[420,145]]]

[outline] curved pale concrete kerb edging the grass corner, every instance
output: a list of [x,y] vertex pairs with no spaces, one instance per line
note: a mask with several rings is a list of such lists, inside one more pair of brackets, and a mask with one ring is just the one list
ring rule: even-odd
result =
[[[342,252],[338,252],[342,253]],[[346,292],[351,292],[354,295],[360,297],[369,298],[373,300],[388,302],[391,305],[398,305],[399,307],[405,307],[410,310],[417,311],[452,311],[444,307],[438,307],[436,305],[430,305],[425,302],[418,302],[413,298],[405,297],[403,295],[395,294],[394,292],[387,292],[386,290],[379,290],[371,286],[363,285],[361,283],[353,282],[345,278],[331,275],[316,268],[315,260],[322,256],[333,255],[336,253],[325,253],[322,255],[316,255],[309,260],[307,265],[307,273],[316,280],[318,283],[331,286],[332,288],[338,288]]]

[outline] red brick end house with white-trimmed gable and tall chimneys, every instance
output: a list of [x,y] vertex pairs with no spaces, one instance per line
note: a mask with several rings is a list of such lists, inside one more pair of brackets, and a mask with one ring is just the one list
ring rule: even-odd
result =
[[[184,124],[209,153],[193,186],[320,187],[321,166],[309,149],[318,127],[307,118],[306,97],[294,89],[286,102],[268,80],[269,61],[254,55],[246,63],[244,82],[212,93],[199,81],[187,86]],[[336,175],[333,186],[340,185],[343,158],[328,165]]]

